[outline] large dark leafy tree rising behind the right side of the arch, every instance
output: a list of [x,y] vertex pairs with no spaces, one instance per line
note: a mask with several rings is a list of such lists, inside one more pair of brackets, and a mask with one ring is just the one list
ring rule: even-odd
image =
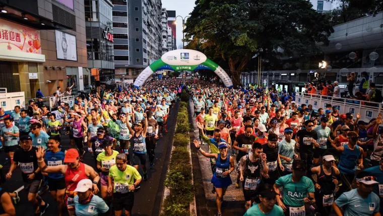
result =
[[315,42],[328,43],[333,28],[311,7],[306,0],[197,0],[186,22],[187,48],[227,66],[236,86],[241,72],[256,68],[254,56],[320,52]]

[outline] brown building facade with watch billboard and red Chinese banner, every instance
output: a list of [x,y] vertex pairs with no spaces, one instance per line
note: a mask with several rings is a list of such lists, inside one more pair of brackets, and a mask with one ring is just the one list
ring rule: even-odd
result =
[[0,88],[23,91],[27,100],[35,98],[38,89],[44,96],[51,96],[57,86],[61,91],[73,84],[75,91],[83,89],[81,79],[89,76],[81,74],[87,67],[84,0],[0,3],[2,33],[9,33],[1,39],[9,41],[0,47],[7,50],[0,56],[4,78]]

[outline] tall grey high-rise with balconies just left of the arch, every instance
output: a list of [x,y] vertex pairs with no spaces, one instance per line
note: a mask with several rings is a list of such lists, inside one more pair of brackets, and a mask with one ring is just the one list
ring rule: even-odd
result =
[[162,55],[161,0],[112,0],[115,77],[135,79]]

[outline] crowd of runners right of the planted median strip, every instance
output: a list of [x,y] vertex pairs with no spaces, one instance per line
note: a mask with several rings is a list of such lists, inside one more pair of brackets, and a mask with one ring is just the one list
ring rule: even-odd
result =
[[218,215],[232,172],[246,216],[380,215],[381,114],[364,122],[335,104],[315,111],[293,93],[251,87],[190,91],[200,131],[194,145],[210,158]]

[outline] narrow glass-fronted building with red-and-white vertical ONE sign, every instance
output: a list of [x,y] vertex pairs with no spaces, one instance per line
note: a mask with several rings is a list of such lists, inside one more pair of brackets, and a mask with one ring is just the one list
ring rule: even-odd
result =
[[[109,0],[84,0],[88,67],[98,69],[100,81],[114,77],[113,4]],[[95,78],[91,82],[95,82]]]

